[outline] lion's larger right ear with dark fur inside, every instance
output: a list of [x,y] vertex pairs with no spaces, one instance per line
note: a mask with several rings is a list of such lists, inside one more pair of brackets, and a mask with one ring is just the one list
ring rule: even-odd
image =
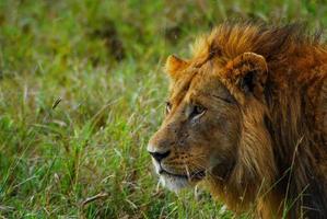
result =
[[226,65],[227,77],[245,94],[261,97],[268,77],[266,59],[255,53],[244,53]]

